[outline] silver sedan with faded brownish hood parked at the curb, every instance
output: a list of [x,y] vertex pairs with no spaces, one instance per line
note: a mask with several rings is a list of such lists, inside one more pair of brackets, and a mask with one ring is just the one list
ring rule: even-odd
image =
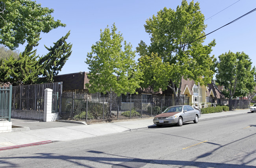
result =
[[153,122],[157,126],[177,124],[182,126],[184,122],[194,121],[198,123],[200,111],[190,105],[176,105],[165,109],[161,114],[154,117]]

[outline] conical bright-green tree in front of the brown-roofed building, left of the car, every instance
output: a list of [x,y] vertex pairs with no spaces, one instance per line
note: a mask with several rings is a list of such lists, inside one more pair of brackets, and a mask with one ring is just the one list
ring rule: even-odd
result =
[[90,84],[86,86],[91,93],[133,94],[140,87],[142,73],[135,64],[135,52],[126,41],[122,47],[122,34],[116,31],[115,24],[111,31],[108,27],[104,31],[100,30],[100,40],[87,54],[85,63],[89,66]]

